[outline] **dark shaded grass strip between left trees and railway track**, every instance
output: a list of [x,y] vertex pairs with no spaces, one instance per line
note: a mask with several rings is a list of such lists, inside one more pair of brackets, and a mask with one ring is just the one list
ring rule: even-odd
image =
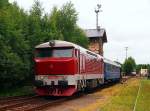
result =
[[23,96],[33,94],[32,86],[24,86],[0,91],[0,97]]

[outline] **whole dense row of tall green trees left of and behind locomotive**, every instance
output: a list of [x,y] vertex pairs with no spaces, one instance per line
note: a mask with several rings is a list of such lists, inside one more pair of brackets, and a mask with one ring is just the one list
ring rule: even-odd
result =
[[0,0],[0,87],[10,88],[32,80],[37,44],[59,39],[87,48],[88,39],[77,20],[71,2],[44,13],[39,1],[25,11],[16,2]]

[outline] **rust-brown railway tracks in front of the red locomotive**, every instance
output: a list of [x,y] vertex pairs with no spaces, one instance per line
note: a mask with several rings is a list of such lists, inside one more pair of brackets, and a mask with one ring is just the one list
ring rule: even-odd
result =
[[45,99],[43,97],[34,97],[29,99],[21,99],[18,101],[11,101],[11,103],[6,103],[0,106],[0,111],[38,111],[42,110],[46,107],[54,106],[56,104],[63,103],[67,100],[75,99],[82,95],[75,95],[72,97],[64,97],[64,98],[52,98]]

